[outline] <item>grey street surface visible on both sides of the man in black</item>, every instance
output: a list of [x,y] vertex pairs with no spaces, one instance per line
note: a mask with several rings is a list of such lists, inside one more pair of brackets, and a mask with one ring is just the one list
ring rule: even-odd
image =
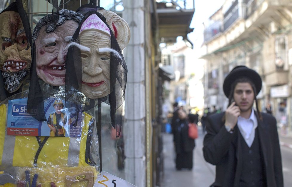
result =
[[[164,179],[162,187],[193,186],[208,187],[215,179],[215,166],[207,163],[203,157],[202,145],[203,134],[199,127],[199,138],[196,140],[193,163],[191,171],[175,169],[175,153],[173,149],[172,134],[163,134],[163,155],[164,155]],[[280,135],[282,152],[282,164],[284,175],[284,186],[292,186],[292,135],[283,137]]]

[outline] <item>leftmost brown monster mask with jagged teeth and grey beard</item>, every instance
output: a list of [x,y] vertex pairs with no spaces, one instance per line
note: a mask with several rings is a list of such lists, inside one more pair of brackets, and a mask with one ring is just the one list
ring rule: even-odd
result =
[[0,68],[5,89],[12,93],[19,89],[29,75],[31,52],[19,13],[5,11],[0,14]]

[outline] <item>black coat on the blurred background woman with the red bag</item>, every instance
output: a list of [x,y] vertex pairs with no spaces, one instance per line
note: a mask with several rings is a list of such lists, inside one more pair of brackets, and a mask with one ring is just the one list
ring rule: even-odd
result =
[[195,147],[195,140],[188,137],[187,120],[177,119],[173,129],[173,141],[177,154],[191,152]]

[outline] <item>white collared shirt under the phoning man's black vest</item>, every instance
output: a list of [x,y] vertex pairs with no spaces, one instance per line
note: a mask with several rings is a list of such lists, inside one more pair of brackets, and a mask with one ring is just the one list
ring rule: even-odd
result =
[[253,144],[256,127],[258,126],[258,121],[256,119],[256,115],[254,114],[254,110],[252,109],[250,117],[248,119],[239,116],[237,118],[237,126],[246,144],[248,145],[248,147],[251,147],[251,145]]

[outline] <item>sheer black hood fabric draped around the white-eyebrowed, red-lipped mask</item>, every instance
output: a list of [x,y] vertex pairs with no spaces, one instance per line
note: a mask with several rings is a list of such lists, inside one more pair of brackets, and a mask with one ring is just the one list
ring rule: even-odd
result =
[[[110,29],[106,22],[105,17],[95,10],[103,9],[95,5],[84,5],[78,9],[79,12],[85,13],[84,18],[79,24],[78,29],[73,35],[72,41],[79,42],[79,31],[83,22],[92,14],[96,14]],[[91,11],[88,11],[91,10]],[[110,29],[111,35],[111,48],[118,51],[122,56],[122,51],[119,44]],[[110,94],[99,99],[86,98],[83,111],[90,110],[100,102],[105,102],[110,105],[110,119],[111,124],[115,128],[116,125],[122,124],[122,103],[125,99],[125,88],[127,82],[127,66],[122,56],[122,59],[116,57],[113,53],[110,55]],[[80,49],[75,46],[71,46],[67,53],[66,60],[66,95],[65,105],[68,99],[75,97],[78,100],[82,91],[82,62]],[[120,133],[120,132],[118,132]]]

